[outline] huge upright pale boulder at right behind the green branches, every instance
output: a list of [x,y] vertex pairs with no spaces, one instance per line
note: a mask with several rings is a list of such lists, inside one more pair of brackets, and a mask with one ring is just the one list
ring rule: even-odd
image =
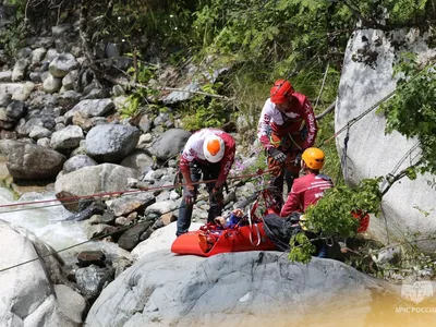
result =
[[[346,52],[339,84],[336,131],[395,89],[392,63],[399,56],[395,44],[402,43],[407,45],[404,51],[416,52],[424,61],[436,55],[435,49],[429,49],[417,36],[416,31],[407,34],[404,31],[385,33],[361,29],[354,33]],[[358,184],[365,178],[398,173],[419,158],[419,148],[409,153],[417,143],[416,140],[407,140],[397,132],[385,135],[385,125],[386,119],[372,111],[350,128],[347,165],[343,167],[348,183]],[[341,156],[346,135],[347,131],[337,137]],[[417,233],[417,239],[433,237],[436,232],[436,192],[432,181],[434,177],[425,174],[414,181],[404,178],[393,184],[384,196],[382,218],[374,217],[371,220],[371,234],[385,243],[403,241],[407,232],[408,238],[412,238],[413,233]],[[428,240],[421,246],[431,249],[432,242]]]

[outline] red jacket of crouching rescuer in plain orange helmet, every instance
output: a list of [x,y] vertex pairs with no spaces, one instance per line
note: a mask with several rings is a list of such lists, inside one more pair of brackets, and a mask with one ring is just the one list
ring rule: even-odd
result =
[[304,213],[310,205],[317,203],[323,197],[325,190],[332,186],[331,179],[322,173],[310,173],[295,179],[280,216],[287,217],[293,211]]

